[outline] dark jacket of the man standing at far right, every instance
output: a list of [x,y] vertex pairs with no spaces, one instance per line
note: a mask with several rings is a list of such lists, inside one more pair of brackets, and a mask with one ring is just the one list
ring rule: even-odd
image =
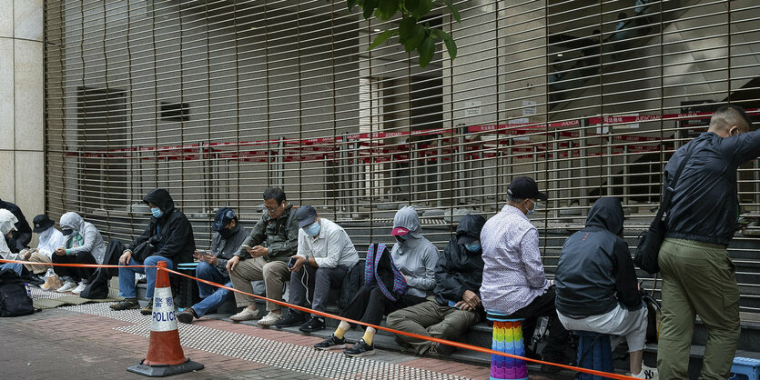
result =
[[739,215],[736,169],[760,155],[760,131],[723,138],[705,132],[682,146],[665,165],[670,183],[686,151],[692,156],[675,184],[666,236],[728,245]]

